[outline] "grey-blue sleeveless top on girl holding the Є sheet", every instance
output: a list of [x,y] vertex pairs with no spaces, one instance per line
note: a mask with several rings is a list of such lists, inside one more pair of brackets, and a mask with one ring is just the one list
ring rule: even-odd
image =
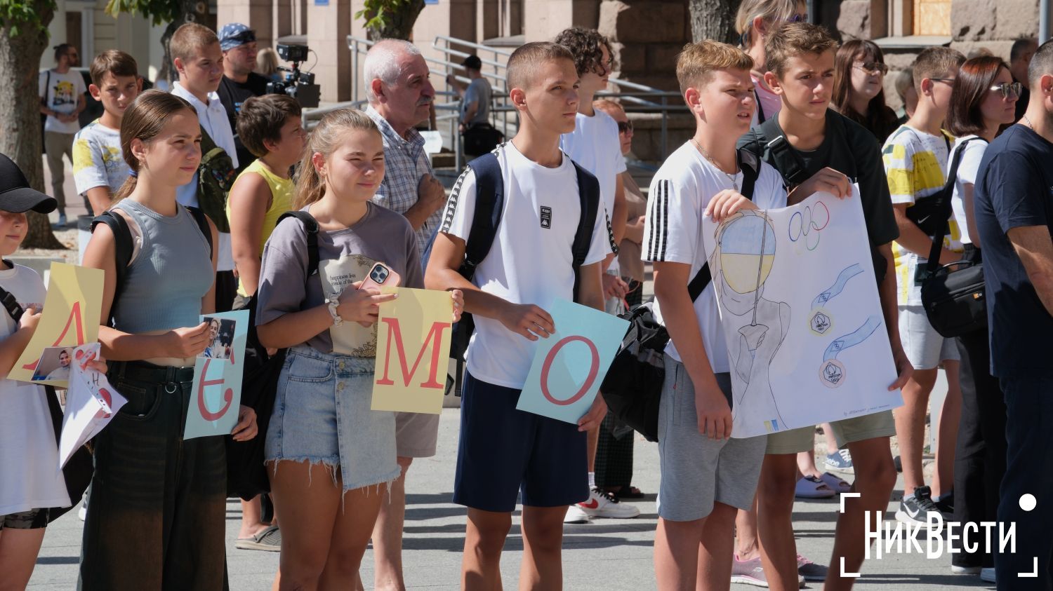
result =
[[128,213],[142,231],[142,246],[116,302],[115,328],[135,334],[200,324],[201,298],[216,277],[194,216],[182,205],[175,216],[161,216],[131,199],[114,208]]

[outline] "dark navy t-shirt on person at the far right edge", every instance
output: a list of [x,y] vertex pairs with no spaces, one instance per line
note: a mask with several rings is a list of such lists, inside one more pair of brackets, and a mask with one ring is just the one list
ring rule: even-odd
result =
[[991,372],[1053,375],[1053,317],[1038,299],[1007,232],[1046,226],[1053,235],[1053,144],[1011,125],[984,152],[976,179],[976,226],[984,245]]

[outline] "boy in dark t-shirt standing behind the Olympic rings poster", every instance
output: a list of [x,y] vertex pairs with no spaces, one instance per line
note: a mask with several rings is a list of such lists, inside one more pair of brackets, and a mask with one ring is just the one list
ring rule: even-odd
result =
[[[795,204],[815,189],[840,198],[858,199],[874,259],[892,359],[898,373],[889,385],[895,390],[911,373],[899,343],[896,322],[896,278],[892,272],[891,242],[899,236],[880,152],[874,137],[861,125],[829,108],[833,94],[837,42],[820,26],[784,23],[771,32],[764,45],[764,82],[782,98],[776,117],[739,139],[742,149],[775,166]],[[859,190],[851,183],[858,183]],[[858,192],[858,195],[856,195]],[[855,464],[853,490],[859,498],[843,501],[837,519],[834,552],[826,589],[849,589],[855,580],[843,572],[858,572],[867,548],[865,511],[880,514],[896,483],[889,437],[895,434],[891,411],[855,416],[831,424],[838,446],[847,447]],[[768,435],[768,448],[757,487],[757,529],[764,574],[771,589],[798,588],[797,552],[793,535],[793,500],[797,482],[796,454],[812,448],[814,429],[802,427]],[[845,561],[843,565],[841,559]]]

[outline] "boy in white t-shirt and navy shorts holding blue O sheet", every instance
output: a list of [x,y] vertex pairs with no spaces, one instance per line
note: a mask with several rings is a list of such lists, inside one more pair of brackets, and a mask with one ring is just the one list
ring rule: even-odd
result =
[[559,149],[578,110],[574,58],[556,43],[526,43],[508,62],[509,98],[520,115],[511,142],[495,154],[504,206],[497,236],[472,282],[458,273],[475,213],[472,169],[458,179],[424,276],[430,289],[462,289],[475,318],[461,403],[454,502],[468,506],[461,585],[501,586],[500,556],[516,496],[522,492],[525,553],[520,584],[562,582],[567,507],[589,496],[585,431],[607,405],[598,395],[577,425],[516,409],[538,339],[555,327],[545,311],[557,298],[603,309],[600,266],[610,233],[596,211],[589,253],[577,269],[571,245],[582,215],[574,163]]

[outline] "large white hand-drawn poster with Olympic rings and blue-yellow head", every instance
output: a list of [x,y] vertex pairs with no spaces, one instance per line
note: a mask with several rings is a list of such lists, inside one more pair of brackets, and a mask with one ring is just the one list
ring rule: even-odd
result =
[[702,223],[731,363],[732,434],[902,404],[859,189]]

